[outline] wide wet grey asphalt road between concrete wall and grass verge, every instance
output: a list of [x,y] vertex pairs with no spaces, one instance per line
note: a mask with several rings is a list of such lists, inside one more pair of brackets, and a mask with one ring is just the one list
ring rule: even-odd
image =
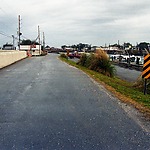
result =
[[0,70],[0,150],[150,150],[150,133],[51,54]]

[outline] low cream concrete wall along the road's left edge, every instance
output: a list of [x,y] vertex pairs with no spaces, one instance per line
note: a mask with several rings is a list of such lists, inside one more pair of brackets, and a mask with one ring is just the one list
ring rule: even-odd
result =
[[26,57],[27,57],[26,51],[0,50],[0,68],[6,67]]

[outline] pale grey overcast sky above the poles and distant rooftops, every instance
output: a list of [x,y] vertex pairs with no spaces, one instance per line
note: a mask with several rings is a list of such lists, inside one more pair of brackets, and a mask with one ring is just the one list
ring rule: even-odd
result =
[[[0,0],[0,46],[17,36],[60,47],[150,42],[150,0]],[[7,36],[4,36],[5,34]]]

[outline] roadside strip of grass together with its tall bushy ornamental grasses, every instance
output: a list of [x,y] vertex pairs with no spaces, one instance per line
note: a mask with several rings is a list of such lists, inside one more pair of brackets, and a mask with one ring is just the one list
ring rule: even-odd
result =
[[69,60],[65,54],[61,54],[60,59],[81,69],[122,102],[133,105],[144,116],[150,118],[150,93],[144,95],[142,79],[132,83],[115,77],[115,69],[102,51],[89,56],[83,54],[78,63]]

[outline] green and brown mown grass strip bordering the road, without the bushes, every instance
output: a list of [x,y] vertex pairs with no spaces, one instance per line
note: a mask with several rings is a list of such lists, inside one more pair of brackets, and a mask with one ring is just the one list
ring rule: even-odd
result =
[[121,101],[133,105],[145,116],[150,117],[150,95],[144,95],[134,83],[123,81],[117,77],[108,77],[86,67],[77,65],[75,62],[61,58],[62,61],[77,67],[87,73],[90,77],[101,83],[107,90],[112,92]]

